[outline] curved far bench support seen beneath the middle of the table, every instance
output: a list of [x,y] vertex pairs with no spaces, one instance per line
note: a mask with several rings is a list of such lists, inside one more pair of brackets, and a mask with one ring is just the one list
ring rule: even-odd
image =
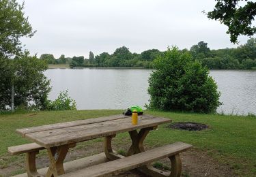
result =
[[122,155],[117,154],[117,152],[115,152],[112,149],[111,142],[112,142],[112,138],[114,138],[114,137],[115,137],[115,135],[109,135],[104,138],[104,152],[105,152],[106,158],[111,161],[116,160],[116,159],[121,159],[124,157]]

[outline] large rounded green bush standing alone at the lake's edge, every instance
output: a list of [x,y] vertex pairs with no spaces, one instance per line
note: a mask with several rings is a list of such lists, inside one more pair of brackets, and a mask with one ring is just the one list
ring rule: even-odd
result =
[[164,56],[154,60],[154,68],[149,78],[149,108],[209,113],[221,105],[208,69],[188,52],[168,48]]

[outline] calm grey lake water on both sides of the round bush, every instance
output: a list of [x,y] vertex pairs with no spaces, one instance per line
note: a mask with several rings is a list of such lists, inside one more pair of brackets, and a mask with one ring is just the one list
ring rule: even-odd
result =
[[[50,99],[68,89],[78,110],[126,109],[148,103],[150,69],[48,69]],[[225,114],[256,114],[256,71],[212,70]]]

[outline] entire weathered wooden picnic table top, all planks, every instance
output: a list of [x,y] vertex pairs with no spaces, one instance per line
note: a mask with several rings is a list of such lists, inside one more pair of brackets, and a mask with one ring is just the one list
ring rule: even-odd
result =
[[169,118],[162,118],[144,114],[138,117],[138,124],[132,125],[131,116],[122,114],[89,118],[66,123],[56,123],[39,127],[17,129],[23,137],[50,148],[64,144],[83,142],[95,138],[115,135],[125,131],[156,127],[160,124],[171,123]]

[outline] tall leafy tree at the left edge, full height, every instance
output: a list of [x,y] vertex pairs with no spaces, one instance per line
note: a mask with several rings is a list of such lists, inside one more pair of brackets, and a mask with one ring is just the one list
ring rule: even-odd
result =
[[[24,3],[15,0],[0,1],[0,110],[34,104],[46,106],[51,87],[44,76],[47,65],[22,50],[20,37],[32,37],[35,31],[24,16]],[[14,95],[14,99],[12,97]]]

